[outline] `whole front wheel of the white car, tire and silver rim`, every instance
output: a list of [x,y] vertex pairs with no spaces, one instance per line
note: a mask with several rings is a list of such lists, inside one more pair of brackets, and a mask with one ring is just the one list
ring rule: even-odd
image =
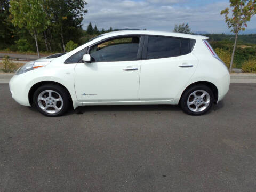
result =
[[65,88],[54,84],[46,84],[35,91],[33,103],[43,115],[57,117],[66,113],[71,102],[69,93]]

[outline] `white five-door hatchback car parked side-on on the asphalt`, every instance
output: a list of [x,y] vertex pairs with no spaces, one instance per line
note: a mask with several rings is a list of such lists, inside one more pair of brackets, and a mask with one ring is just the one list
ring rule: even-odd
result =
[[202,115],[229,89],[230,76],[208,37],[115,31],[73,51],[26,63],[10,81],[15,101],[59,116],[70,105],[180,104]]

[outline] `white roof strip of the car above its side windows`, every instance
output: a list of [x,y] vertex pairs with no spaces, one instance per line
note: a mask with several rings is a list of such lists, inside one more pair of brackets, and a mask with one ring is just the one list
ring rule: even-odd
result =
[[103,36],[117,36],[117,35],[161,35],[170,37],[181,37],[191,39],[209,39],[209,37],[203,35],[181,34],[167,31],[153,31],[153,30],[119,30],[102,34]]

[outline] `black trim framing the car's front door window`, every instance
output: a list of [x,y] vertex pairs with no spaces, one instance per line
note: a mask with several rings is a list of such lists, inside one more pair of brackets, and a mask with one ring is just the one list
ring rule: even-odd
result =
[[[113,37],[108,37],[108,38],[102,39],[101,41],[96,42],[96,43],[93,43],[92,45],[88,46],[87,54],[90,53],[91,47],[93,47],[93,46],[95,46],[95,45],[99,45],[99,44],[102,44],[102,43],[104,43],[104,42],[111,41],[111,39],[125,38],[125,37],[128,37],[128,38],[129,38],[129,37],[140,37],[139,48],[138,48],[138,52],[137,52],[137,57],[136,57],[136,59],[135,59],[135,60],[125,60],[125,61],[138,61],[138,60],[141,60],[141,57],[142,57],[142,50],[143,50],[143,43],[144,43],[144,38],[145,38],[145,36],[144,36],[144,35],[141,35],[141,34],[117,35],[117,36],[113,36]],[[100,62],[125,62],[125,61],[98,61],[97,63],[100,63]]]

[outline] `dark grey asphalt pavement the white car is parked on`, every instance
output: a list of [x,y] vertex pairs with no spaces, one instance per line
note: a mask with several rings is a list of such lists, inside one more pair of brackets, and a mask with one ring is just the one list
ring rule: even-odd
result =
[[1,192],[256,189],[256,84],[231,84],[204,116],[150,105],[50,118],[0,93]]

